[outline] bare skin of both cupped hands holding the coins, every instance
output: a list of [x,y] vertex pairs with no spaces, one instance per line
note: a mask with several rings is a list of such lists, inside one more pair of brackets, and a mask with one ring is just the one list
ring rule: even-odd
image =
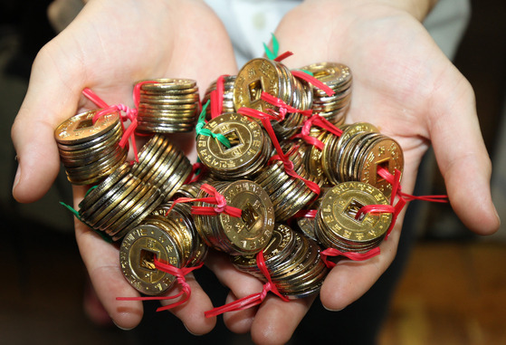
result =
[[[431,5],[308,0],[285,16],[275,34],[280,51],[294,53],[284,61],[291,68],[325,61],[350,67],[354,84],[347,121],[371,122],[399,142],[405,153],[404,192],[413,191],[420,159],[432,142],[456,214],[477,234],[492,234],[499,218],[492,205],[492,168],[473,89],[420,24]],[[125,100],[131,100],[135,81],[192,78],[205,89],[218,75],[236,72],[223,24],[201,1],[91,0],[33,63],[12,129],[19,159],[14,197],[33,202],[51,187],[60,166],[53,130],[73,114],[94,108],[81,96],[83,88],[109,104],[131,106]],[[194,140],[177,140],[188,154],[193,152]],[[86,189],[73,187],[74,206]],[[345,308],[376,282],[396,254],[403,217],[401,213],[380,245],[380,255],[361,263],[341,261],[332,269],[320,292],[326,308]],[[118,248],[77,220],[75,232],[91,282],[110,317],[123,329],[135,327],[142,318],[141,302],[116,301],[117,296],[138,296],[119,270]],[[262,289],[252,276],[234,270],[223,254],[211,255],[206,264],[231,289],[227,302]],[[215,326],[215,318],[204,317],[212,305],[193,275],[187,279],[192,297],[173,312],[188,331],[203,334]],[[269,295],[260,307],[227,313],[224,321],[232,331],[251,331],[255,342],[284,343],[312,301],[282,302]]]

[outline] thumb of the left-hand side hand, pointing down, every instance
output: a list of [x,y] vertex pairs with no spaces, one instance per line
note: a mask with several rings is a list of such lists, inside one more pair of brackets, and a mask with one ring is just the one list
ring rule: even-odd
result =
[[[81,89],[70,68],[62,69],[58,46],[46,44],[33,62],[28,91],[11,137],[18,160],[13,196],[23,203],[41,198],[58,175],[60,158],[54,129],[77,110]],[[67,71],[67,73],[62,73]]]

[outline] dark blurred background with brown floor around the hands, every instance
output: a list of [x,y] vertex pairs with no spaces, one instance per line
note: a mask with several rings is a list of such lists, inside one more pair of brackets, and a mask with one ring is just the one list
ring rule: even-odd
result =
[[[87,277],[75,244],[72,215],[58,204],[72,202],[64,175],[39,202],[20,205],[11,196],[16,163],[10,128],[24,98],[33,58],[54,35],[46,16],[50,3],[0,1],[0,343],[136,343],[147,340],[147,335],[120,331],[107,322],[98,326],[86,316],[82,301],[88,292]],[[492,195],[504,222],[506,3],[481,0],[472,5],[471,22],[454,63],[476,93],[493,163]],[[445,194],[430,153],[422,172],[419,195]],[[480,237],[460,223],[451,206],[418,201],[410,206],[410,216],[415,219],[415,244],[407,248],[411,253],[400,268],[404,274],[379,343],[506,344],[505,225],[496,235]],[[148,306],[144,323],[160,317],[153,308]],[[214,332],[222,343],[247,341],[247,336],[224,330],[223,324]],[[173,336],[167,334],[167,340]]]

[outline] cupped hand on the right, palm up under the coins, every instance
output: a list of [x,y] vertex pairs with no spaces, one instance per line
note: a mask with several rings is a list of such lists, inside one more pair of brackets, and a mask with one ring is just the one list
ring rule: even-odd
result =
[[[347,122],[373,123],[399,142],[405,154],[403,191],[413,192],[417,168],[432,141],[455,212],[477,234],[492,234],[499,219],[473,89],[420,24],[428,4],[411,8],[408,3],[307,0],[283,18],[275,33],[280,53],[294,53],[283,63],[290,68],[347,64],[353,73]],[[380,255],[366,262],[343,260],[332,269],[320,292],[326,308],[345,308],[386,271],[396,255],[403,217],[404,212],[381,244]],[[286,342],[310,306],[301,301],[299,308],[286,308],[274,300],[265,301],[257,313],[271,308],[275,317],[270,323],[244,313],[256,342]],[[273,311],[275,303],[279,309]],[[233,330],[243,324],[239,313],[224,321]]]

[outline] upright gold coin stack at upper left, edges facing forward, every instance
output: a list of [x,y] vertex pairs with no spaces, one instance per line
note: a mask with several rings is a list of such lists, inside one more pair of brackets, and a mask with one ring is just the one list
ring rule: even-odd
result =
[[199,111],[196,81],[156,79],[153,82],[145,82],[140,86],[137,131],[189,132],[195,129]]

